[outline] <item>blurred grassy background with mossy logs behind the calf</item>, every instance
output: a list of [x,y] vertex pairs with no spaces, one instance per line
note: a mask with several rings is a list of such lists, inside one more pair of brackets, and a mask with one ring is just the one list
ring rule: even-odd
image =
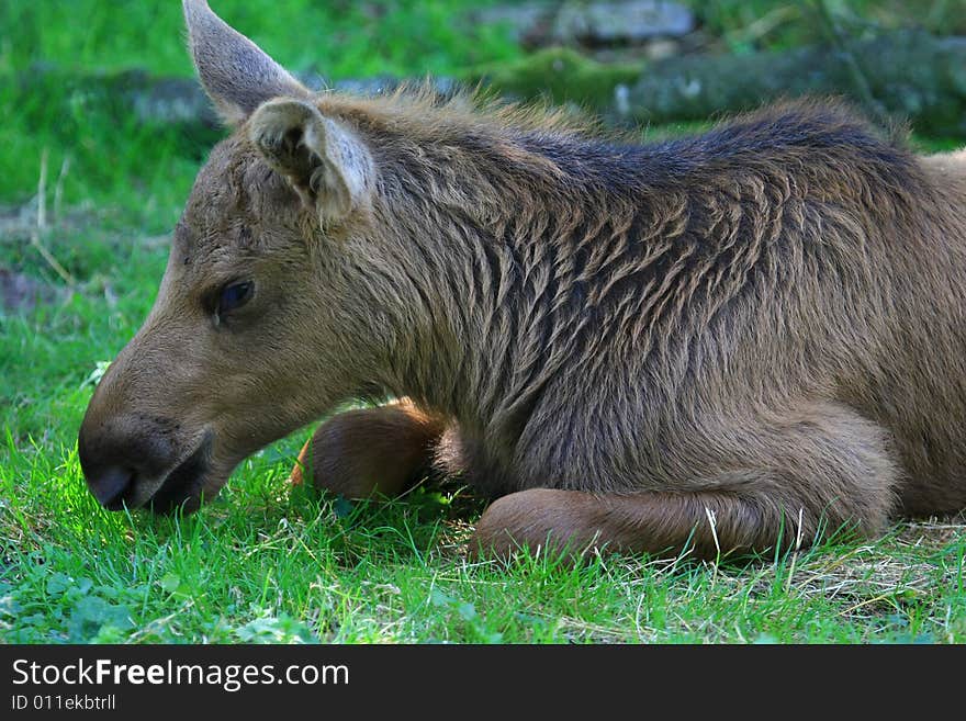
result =
[[[801,93],[913,145],[966,138],[966,0],[211,0],[315,88],[431,76],[637,128],[642,140]],[[178,0],[0,3],[0,412],[72,443],[90,384],[154,298],[224,135]],[[58,391],[58,388],[60,391]]]

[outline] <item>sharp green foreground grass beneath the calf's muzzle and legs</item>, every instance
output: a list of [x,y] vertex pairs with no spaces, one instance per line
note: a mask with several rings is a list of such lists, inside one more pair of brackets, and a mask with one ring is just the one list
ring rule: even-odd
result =
[[461,555],[457,519],[473,504],[459,508],[459,493],[351,507],[290,491],[285,443],[201,514],[109,514],[64,426],[46,441],[7,439],[9,642],[966,640],[966,540],[935,525],[748,566],[526,557],[504,568]]

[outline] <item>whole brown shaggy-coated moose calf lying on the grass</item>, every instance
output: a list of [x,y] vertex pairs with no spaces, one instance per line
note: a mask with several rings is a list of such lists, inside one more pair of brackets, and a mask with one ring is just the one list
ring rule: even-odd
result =
[[206,38],[237,126],[81,428],[109,507],[196,507],[372,393],[412,405],[324,424],[315,482],[397,493],[435,461],[499,497],[483,551],[709,556],[966,507],[963,156],[831,102],[636,146],[468,98],[280,93]]

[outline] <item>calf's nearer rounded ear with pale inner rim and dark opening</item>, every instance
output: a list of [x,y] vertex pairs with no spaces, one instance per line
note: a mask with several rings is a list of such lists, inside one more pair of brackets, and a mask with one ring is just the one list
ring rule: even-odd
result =
[[369,148],[313,103],[285,98],[266,102],[251,115],[248,137],[317,210],[323,224],[341,221],[368,202],[374,176]]

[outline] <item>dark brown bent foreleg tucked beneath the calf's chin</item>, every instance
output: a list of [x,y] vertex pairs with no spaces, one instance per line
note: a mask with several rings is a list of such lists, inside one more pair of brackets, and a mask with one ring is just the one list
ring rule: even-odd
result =
[[341,413],[305,443],[291,481],[347,498],[398,496],[430,467],[446,426],[408,399]]

